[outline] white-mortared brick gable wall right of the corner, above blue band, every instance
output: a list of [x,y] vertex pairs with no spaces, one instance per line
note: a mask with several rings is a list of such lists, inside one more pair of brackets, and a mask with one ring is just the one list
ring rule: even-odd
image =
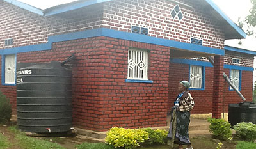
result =
[[[182,0],[192,8],[179,4],[184,18],[173,19],[173,1],[114,0],[104,4],[103,26],[131,32],[131,26],[148,28],[149,36],[190,43],[190,38],[202,39],[203,45],[223,49],[221,26],[211,11],[202,10],[202,1]],[[206,2],[205,2],[206,3]]]

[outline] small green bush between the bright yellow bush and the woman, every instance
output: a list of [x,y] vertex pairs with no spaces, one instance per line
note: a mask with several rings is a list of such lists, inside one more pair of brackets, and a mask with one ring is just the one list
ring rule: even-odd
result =
[[148,137],[149,139],[147,141],[145,141],[146,144],[152,145],[153,143],[161,143],[161,144],[165,144],[167,141],[167,132],[166,130],[153,130],[151,128],[145,128],[142,129],[145,132],[148,132]]

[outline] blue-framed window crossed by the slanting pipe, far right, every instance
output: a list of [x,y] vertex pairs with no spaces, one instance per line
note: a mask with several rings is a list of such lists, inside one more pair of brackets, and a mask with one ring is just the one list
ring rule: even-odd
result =
[[[230,69],[229,70],[229,78],[230,81],[237,87],[239,91],[241,91],[241,82],[242,82],[242,70]],[[234,91],[234,89],[230,86],[230,91]]]

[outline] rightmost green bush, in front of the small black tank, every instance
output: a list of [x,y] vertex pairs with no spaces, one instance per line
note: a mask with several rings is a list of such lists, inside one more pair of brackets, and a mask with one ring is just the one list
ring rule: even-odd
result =
[[254,141],[256,139],[256,125],[253,123],[241,122],[234,125],[236,134],[246,141]]

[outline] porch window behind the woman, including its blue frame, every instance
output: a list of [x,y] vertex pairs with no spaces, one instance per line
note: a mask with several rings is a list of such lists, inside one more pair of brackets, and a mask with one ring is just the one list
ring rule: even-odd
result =
[[189,90],[204,90],[205,67],[200,65],[189,65]]

